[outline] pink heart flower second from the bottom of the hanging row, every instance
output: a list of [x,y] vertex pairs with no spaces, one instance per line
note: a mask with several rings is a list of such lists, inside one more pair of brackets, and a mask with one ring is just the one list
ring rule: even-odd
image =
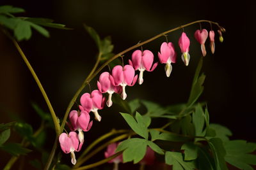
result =
[[87,132],[92,127],[92,121],[90,122],[90,115],[87,111],[83,110],[80,113],[76,110],[72,110],[69,113],[69,120],[72,125],[72,131],[78,131],[79,141],[84,143],[84,132]]

